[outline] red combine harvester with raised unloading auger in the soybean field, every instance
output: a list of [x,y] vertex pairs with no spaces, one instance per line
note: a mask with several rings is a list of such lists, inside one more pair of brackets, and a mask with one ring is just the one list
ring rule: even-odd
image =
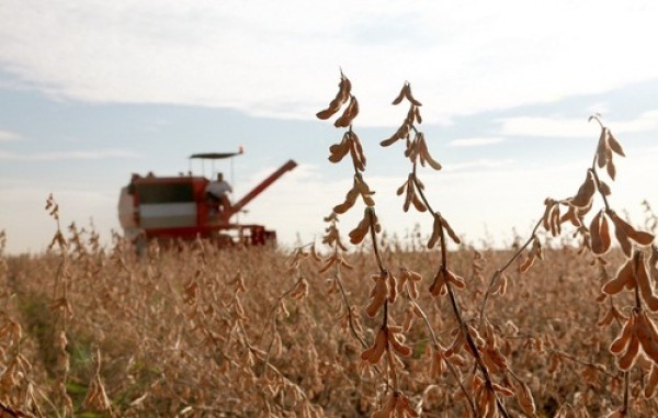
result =
[[[195,154],[190,159],[217,160],[239,152]],[[297,167],[288,160],[242,199],[220,207],[206,194],[209,180],[203,176],[146,177],[133,174],[118,199],[118,219],[125,236],[138,241],[160,242],[205,238],[223,246],[236,244],[264,245],[276,241],[276,233],[262,225],[231,223],[230,219],[274,183],[285,172]]]

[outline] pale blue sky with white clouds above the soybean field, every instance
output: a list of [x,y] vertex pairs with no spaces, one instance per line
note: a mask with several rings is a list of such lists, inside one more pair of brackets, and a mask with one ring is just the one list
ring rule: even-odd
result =
[[444,166],[422,173],[430,199],[467,240],[509,241],[544,197],[574,194],[595,112],[627,155],[612,204],[642,224],[642,200],[658,208],[657,18],[649,1],[3,0],[0,229],[12,253],[43,250],[52,192],[65,224],[93,223],[106,241],[132,172],[175,174],[191,154],[243,146],[236,197],[290,158],[299,167],[242,221],[284,244],[317,239],[351,183],[348,165],[327,161],[341,132],[314,117],[339,68],[361,104],[354,129],[389,233],[431,227],[395,195],[401,145],[378,147],[406,114],[390,105],[406,80]]

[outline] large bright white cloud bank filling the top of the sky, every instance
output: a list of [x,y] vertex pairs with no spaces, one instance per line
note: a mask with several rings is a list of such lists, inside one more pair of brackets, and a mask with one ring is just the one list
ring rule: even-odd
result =
[[658,76],[650,1],[5,0],[2,10],[0,68],[92,102],[311,118],[342,66],[358,122],[387,125],[400,118],[388,103],[405,80],[438,122]]

